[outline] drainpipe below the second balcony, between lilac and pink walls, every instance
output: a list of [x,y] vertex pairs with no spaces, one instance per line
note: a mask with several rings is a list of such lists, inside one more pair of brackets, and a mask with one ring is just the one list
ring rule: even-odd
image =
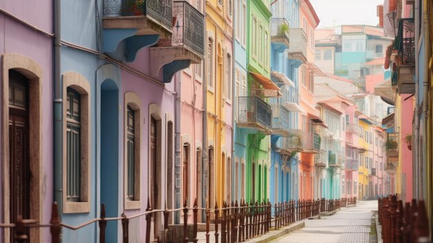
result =
[[[175,133],[174,133],[174,146],[175,146],[175,152],[176,152],[176,161],[174,164],[174,173],[180,174],[181,173],[181,87],[182,87],[182,80],[181,80],[181,72],[176,73],[176,82],[174,82],[174,91],[176,92],[176,102],[174,107],[174,120],[175,120]],[[176,177],[176,175],[175,175]],[[174,203],[176,204],[176,208],[180,208],[182,206],[181,202],[181,185],[180,181],[175,180],[176,184],[174,186]],[[181,215],[177,211],[175,213],[174,217],[174,224],[180,224]]]

